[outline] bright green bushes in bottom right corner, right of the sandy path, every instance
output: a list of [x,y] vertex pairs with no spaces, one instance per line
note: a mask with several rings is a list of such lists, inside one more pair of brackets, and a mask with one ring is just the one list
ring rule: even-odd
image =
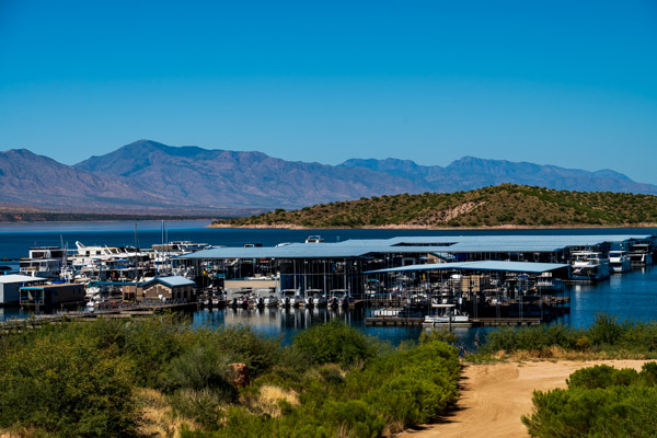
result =
[[532,437],[657,436],[657,364],[641,372],[606,365],[575,371],[568,388],[535,391],[522,423]]

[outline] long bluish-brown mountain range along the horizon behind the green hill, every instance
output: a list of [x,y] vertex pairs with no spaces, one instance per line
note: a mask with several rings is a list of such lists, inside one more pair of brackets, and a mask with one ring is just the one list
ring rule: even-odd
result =
[[447,166],[351,159],[338,165],[262,152],[139,140],[76,165],[28,150],[0,152],[0,204],[83,211],[240,214],[401,193],[451,193],[503,183],[580,192],[657,194],[602,170],[464,157]]

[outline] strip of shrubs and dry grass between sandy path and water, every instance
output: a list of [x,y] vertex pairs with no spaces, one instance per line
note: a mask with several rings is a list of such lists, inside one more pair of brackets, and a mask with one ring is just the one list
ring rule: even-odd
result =
[[473,360],[503,358],[657,358],[657,322],[599,314],[588,328],[563,324],[499,328],[487,334]]

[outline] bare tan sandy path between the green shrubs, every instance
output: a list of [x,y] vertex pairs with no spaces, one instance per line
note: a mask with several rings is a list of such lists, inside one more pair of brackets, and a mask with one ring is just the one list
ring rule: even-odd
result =
[[532,411],[533,390],[565,388],[573,371],[607,364],[641,370],[645,360],[537,361],[465,365],[457,410],[442,423],[399,434],[402,438],[528,437],[520,416]]

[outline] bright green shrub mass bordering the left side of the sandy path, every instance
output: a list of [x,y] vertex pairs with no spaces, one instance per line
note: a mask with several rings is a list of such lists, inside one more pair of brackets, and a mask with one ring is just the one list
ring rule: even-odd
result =
[[[457,349],[447,344],[433,341],[384,349],[349,371],[336,364],[309,369],[301,374],[300,403],[284,402],[280,417],[229,408],[222,427],[184,436],[378,437],[385,429],[397,430],[391,425],[404,427],[438,417],[456,400],[459,376]],[[244,395],[256,394],[245,391]]]

